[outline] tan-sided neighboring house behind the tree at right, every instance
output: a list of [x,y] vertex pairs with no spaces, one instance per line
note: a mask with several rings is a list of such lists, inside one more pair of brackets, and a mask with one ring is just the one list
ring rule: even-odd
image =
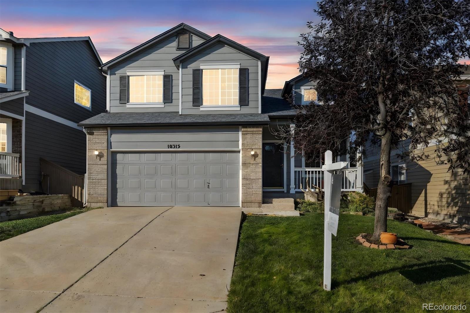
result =
[[[456,85],[461,95],[462,110],[470,110],[470,68],[465,66],[463,70],[464,75],[456,79]],[[392,197],[404,198],[411,214],[470,224],[469,173],[463,174],[461,169],[449,172],[446,157],[439,158],[435,142],[417,151],[424,151],[424,155],[429,156],[423,161],[402,159],[400,154],[407,152],[408,147],[409,141],[402,141],[391,153],[393,184],[402,186],[404,191],[397,188]],[[379,155],[378,147],[366,147],[364,183],[368,188],[377,187],[380,178]]]

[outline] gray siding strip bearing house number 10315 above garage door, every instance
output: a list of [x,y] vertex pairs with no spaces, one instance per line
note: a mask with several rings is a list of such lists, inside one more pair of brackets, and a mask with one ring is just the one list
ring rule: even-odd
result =
[[[238,127],[111,128],[111,149],[239,149]],[[177,149],[176,149],[177,150]]]

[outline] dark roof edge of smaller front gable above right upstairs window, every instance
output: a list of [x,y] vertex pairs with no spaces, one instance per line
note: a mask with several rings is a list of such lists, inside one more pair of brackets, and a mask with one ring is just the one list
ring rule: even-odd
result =
[[196,47],[189,49],[185,53],[182,53],[178,55],[177,57],[173,58],[173,63],[176,65],[177,68],[180,68],[181,62],[184,62],[191,56],[197,55],[205,51],[206,49],[215,46],[218,43],[223,43],[261,62],[261,73],[263,74],[263,80],[264,80],[264,84],[262,85],[262,89],[261,89],[261,94],[264,94],[264,91],[266,88],[266,77],[267,77],[267,67],[269,64],[269,56],[262,55],[259,52],[256,52],[255,50],[245,47],[239,44],[238,42],[235,42],[232,39],[228,39],[227,37],[222,36],[220,34],[215,35],[214,37],[203,42],[202,44],[199,44]]

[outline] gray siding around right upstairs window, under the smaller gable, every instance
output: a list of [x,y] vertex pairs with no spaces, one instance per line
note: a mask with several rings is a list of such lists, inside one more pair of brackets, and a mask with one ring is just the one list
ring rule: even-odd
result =
[[[200,68],[201,63],[240,63],[242,68],[249,69],[249,105],[242,106],[241,110],[234,111],[201,111],[200,107],[193,107],[192,72]],[[181,64],[182,69],[182,114],[240,114],[258,113],[258,60],[244,55],[224,44],[217,44],[203,53]]]

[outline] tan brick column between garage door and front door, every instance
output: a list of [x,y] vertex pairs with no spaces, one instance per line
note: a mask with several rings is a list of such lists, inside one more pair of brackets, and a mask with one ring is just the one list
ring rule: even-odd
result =
[[[242,207],[259,208],[263,202],[262,163],[263,127],[242,126]],[[256,160],[251,151],[258,154]]]

